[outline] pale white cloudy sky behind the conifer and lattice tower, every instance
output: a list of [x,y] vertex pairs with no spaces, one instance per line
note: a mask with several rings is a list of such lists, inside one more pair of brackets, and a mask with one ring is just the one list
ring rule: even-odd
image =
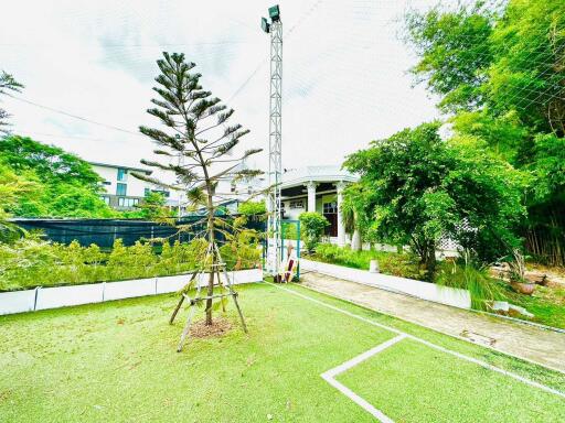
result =
[[[414,86],[407,70],[416,57],[398,36],[408,7],[435,2],[279,1],[284,167],[341,164],[371,140],[439,117],[436,99]],[[163,51],[180,52],[196,63],[203,87],[235,109],[231,123],[250,130],[243,148],[265,149],[253,163],[263,167],[269,36],[259,20],[273,3],[10,2],[2,7],[9,18],[0,25],[0,69],[25,86],[20,99],[1,99],[12,131],[88,161],[139,165],[156,148],[138,131],[140,124],[158,126],[146,112],[156,59]]]

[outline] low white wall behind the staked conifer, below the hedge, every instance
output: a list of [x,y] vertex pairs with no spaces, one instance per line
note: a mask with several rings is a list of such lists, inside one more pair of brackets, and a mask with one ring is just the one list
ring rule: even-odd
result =
[[[233,284],[263,281],[263,270],[260,269],[238,270],[227,274]],[[179,274],[122,282],[102,282],[2,292],[0,293],[0,315],[164,294],[179,291],[188,281],[189,275]],[[204,286],[207,283],[207,274],[202,274],[199,283]]]

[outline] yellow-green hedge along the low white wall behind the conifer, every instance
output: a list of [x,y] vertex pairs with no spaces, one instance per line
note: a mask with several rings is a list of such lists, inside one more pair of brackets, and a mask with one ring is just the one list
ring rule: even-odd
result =
[[[257,246],[255,238],[241,236],[222,247],[228,268],[255,268],[260,260]],[[0,291],[185,273],[202,265],[206,249],[202,238],[172,246],[166,241],[158,254],[150,243],[125,247],[116,239],[108,253],[96,245],[50,243],[31,234],[10,245],[0,242]]]

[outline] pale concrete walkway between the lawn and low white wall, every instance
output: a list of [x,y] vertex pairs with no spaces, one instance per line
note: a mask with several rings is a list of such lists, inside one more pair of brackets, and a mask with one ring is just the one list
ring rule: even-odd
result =
[[301,281],[312,290],[430,329],[476,340],[478,344],[487,345],[486,341],[489,341],[493,349],[565,373],[565,334],[395,294],[320,273],[303,273]]

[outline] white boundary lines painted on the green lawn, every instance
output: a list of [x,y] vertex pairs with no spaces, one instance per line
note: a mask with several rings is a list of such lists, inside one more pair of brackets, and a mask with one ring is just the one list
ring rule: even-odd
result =
[[[321,306],[323,306],[323,307],[327,307],[327,308],[333,310],[333,311],[335,311],[335,312],[338,312],[338,313],[342,313],[342,314],[344,314],[344,315],[347,315],[347,316],[350,316],[350,317],[356,318],[358,321],[369,323],[370,325],[373,325],[373,326],[380,327],[380,328],[382,328],[382,329],[385,329],[385,330],[388,330],[388,332],[392,332],[392,333],[394,333],[394,334],[398,335],[397,337],[393,338],[393,339],[396,339],[396,341],[395,341],[395,343],[393,343],[393,344],[391,344],[391,345],[394,345],[394,344],[396,344],[398,340],[402,340],[402,339],[404,339],[404,338],[408,338],[408,339],[415,340],[415,341],[417,341],[417,343],[420,343],[420,344],[423,344],[423,345],[426,345],[427,347],[434,348],[434,349],[436,349],[436,350],[438,350],[438,351],[441,351],[441,352],[445,352],[445,354],[449,354],[449,355],[455,356],[455,357],[457,357],[457,358],[460,358],[460,359],[462,359],[462,360],[466,360],[466,361],[469,361],[469,362],[476,364],[476,365],[478,365],[478,366],[481,366],[481,367],[483,367],[483,368],[486,368],[486,369],[489,369],[489,370],[495,371],[495,372],[498,372],[498,373],[501,373],[501,375],[508,376],[508,377],[510,377],[510,378],[512,378],[512,379],[515,379],[515,380],[521,381],[522,383],[525,383],[525,384],[529,384],[529,386],[531,386],[531,387],[534,387],[534,388],[541,389],[542,391],[550,392],[550,393],[553,393],[553,394],[555,394],[555,395],[557,395],[557,397],[565,398],[565,392],[562,392],[562,391],[558,391],[558,390],[556,390],[556,389],[554,389],[554,388],[551,388],[551,387],[547,387],[547,386],[545,386],[545,384],[542,384],[542,383],[535,382],[535,381],[533,381],[533,380],[530,380],[530,379],[527,379],[527,378],[524,378],[524,377],[522,377],[522,376],[520,376],[520,375],[516,375],[516,373],[513,373],[513,372],[511,372],[511,371],[508,371],[508,370],[501,369],[501,368],[499,368],[499,367],[495,367],[495,366],[489,365],[489,364],[488,364],[488,362],[486,362],[486,361],[482,361],[482,360],[479,360],[479,359],[477,359],[477,358],[469,357],[469,356],[466,356],[466,355],[463,355],[463,354],[460,354],[460,352],[457,352],[457,351],[454,351],[454,350],[450,350],[450,349],[444,348],[444,347],[441,347],[441,346],[439,346],[439,345],[436,345],[436,344],[433,344],[433,343],[427,341],[427,340],[425,340],[425,339],[418,338],[417,336],[414,336],[414,335],[411,335],[411,334],[404,333],[404,332],[402,332],[402,330],[395,329],[394,327],[386,326],[386,325],[383,325],[383,324],[381,324],[381,323],[377,323],[377,322],[371,321],[371,319],[369,319],[369,318],[365,318],[365,317],[363,317],[363,316],[360,316],[360,315],[356,315],[356,314],[354,314],[354,313],[348,312],[348,311],[342,310],[342,308],[340,308],[340,307],[337,307],[337,306],[334,306],[334,305],[331,305],[331,304],[324,303],[323,301],[319,301],[319,300],[316,300],[316,299],[313,299],[313,297],[311,297],[311,296],[308,296],[308,295],[301,294],[301,293],[299,293],[299,292],[296,292],[296,291],[294,291],[294,290],[289,290],[288,288],[279,286],[279,285],[277,285],[277,284],[275,284],[275,283],[271,283],[271,282],[265,282],[265,283],[267,283],[267,284],[269,284],[269,285],[273,285],[273,286],[275,286],[275,288],[277,288],[277,289],[279,289],[279,290],[286,291],[286,292],[288,292],[288,293],[290,293],[290,294],[292,294],[292,295],[296,295],[296,296],[299,296],[299,297],[301,297],[301,299],[308,300],[308,301],[310,301],[310,302],[312,302],[312,303],[319,304],[319,305],[321,305]],[[401,339],[398,339],[401,336],[402,336],[402,338],[401,338]],[[391,340],[393,340],[393,339],[391,339]],[[386,344],[386,343],[384,343],[384,344]],[[375,352],[373,352],[372,355],[377,354],[377,352],[380,351],[377,348],[379,348],[379,347],[381,347],[381,346],[383,346],[384,344],[381,344],[380,346],[374,347],[373,349],[371,349],[370,351],[376,350],[376,351],[375,351]],[[388,347],[388,346],[390,346],[390,345],[387,345],[386,347]],[[386,348],[386,347],[385,347],[385,348]],[[384,348],[383,348],[383,349],[384,349]],[[366,352],[370,352],[370,351],[366,351]],[[363,356],[363,355],[361,355],[361,356]],[[361,357],[361,356],[359,356],[359,357]],[[359,358],[359,357],[358,357],[358,358]],[[362,361],[363,359],[366,359],[366,358],[369,358],[369,357],[370,357],[370,356],[367,356],[367,357],[365,357],[365,358],[362,358],[360,361]],[[355,360],[355,359],[353,359],[353,360]],[[350,360],[350,361],[352,361],[352,360]],[[343,364],[343,365],[341,365],[341,366],[344,366],[344,365],[347,365],[347,364],[348,364],[348,362],[350,362],[350,361],[347,361],[345,364]],[[338,366],[338,368],[340,368],[341,366]],[[334,369],[333,369],[333,370],[334,370]],[[331,371],[331,370],[330,370],[330,371]],[[327,373],[327,372],[326,372],[326,373]],[[323,378],[323,375],[326,375],[326,373],[322,373],[322,378]],[[327,379],[324,378],[324,380],[327,380]],[[337,382],[337,381],[335,381],[335,382]],[[334,383],[332,383],[332,382],[330,382],[330,383],[331,383],[333,387],[338,388]],[[337,382],[337,383],[339,383],[339,382]],[[339,384],[340,384],[342,388],[344,388],[344,390],[347,390],[348,392],[350,392],[352,395],[356,397],[361,402],[366,403],[366,401],[364,401],[362,398],[358,397],[354,392],[352,392],[351,390],[349,390],[347,387],[342,386],[341,383],[339,383]],[[338,388],[338,389],[339,389],[341,392],[343,392],[340,388]],[[349,398],[351,398],[351,399],[353,400],[353,398],[352,398],[352,397],[350,397],[349,394],[348,394],[348,397],[349,397]],[[355,401],[355,400],[353,400],[353,401]],[[355,402],[356,402],[358,404],[360,404],[358,401],[355,401]],[[370,406],[371,406],[373,410],[375,410],[376,412],[381,413],[379,410],[376,410],[376,409],[375,409],[374,406],[372,406],[371,404],[369,404],[369,403],[366,403],[366,404],[367,404],[367,405],[370,405]],[[360,405],[361,405],[361,404],[360,404]],[[363,406],[363,405],[361,405],[361,406]],[[363,408],[364,408],[364,406],[363,406]],[[365,409],[365,408],[364,408],[364,409]],[[365,410],[367,410],[367,409],[365,409]],[[369,410],[367,410],[367,411],[369,411]],[[371,411],[369,411],[369,412],[371,412]],[[372,413],[372,414],[373,414],[373,413]],[[373,414],[373,415],[375,415],[375,414]],[[385,417],[386,417],[386,416],[385,416]],[[386,417],[386,419],[388,419],[388,417]],[[385,420],[384,422],[391,422],[391,420]]]

